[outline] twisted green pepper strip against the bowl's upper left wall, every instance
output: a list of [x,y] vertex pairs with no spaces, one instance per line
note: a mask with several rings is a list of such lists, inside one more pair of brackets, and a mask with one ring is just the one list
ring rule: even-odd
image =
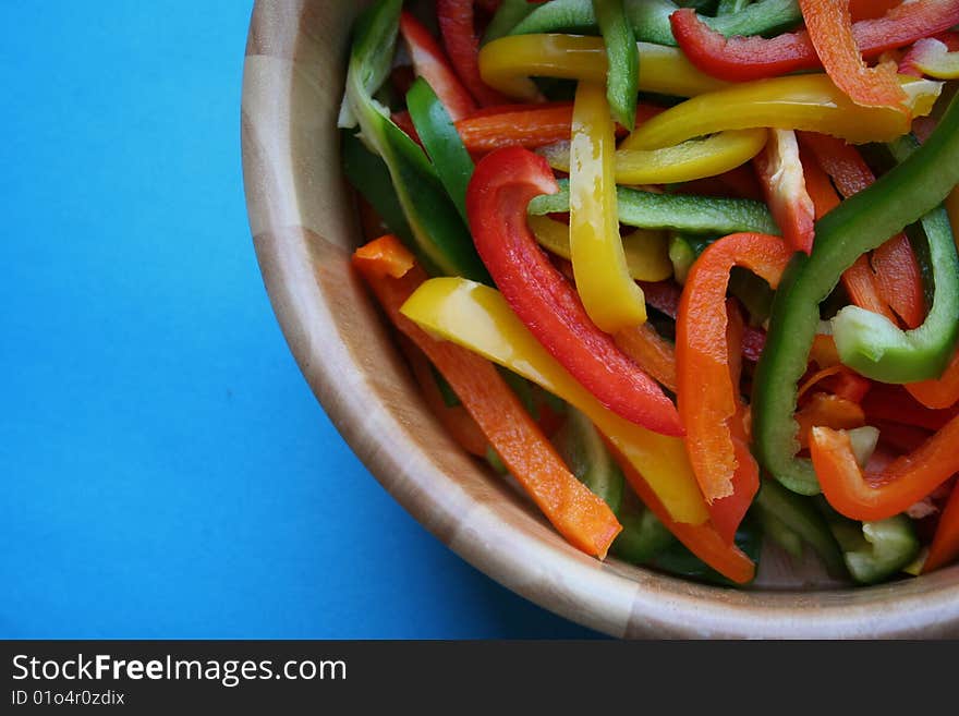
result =
[[426,270],[491,283],[436,169],[373,98],[392,65],[402,4],[402,0],[380,0],[356,20],[347,72],[348,111],[341,114],[341,123],[352,114],[363,141],[386,162],[413,236],[410,247]]

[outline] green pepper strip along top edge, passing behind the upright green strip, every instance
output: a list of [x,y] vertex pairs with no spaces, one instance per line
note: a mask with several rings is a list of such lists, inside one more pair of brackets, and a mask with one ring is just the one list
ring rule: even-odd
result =
[[[670,0],[626,0],[626,14],[636,39],[656,45],[676,46],[669,15],[679,8]],[[772,35],[792,27],[802,20],[796,0],[761,0],[732,14],[701,17],[726,37]],[[510,35],[578,32],[596,33],[596,14],[591,0],[554,0],[539,5],[512,28]]]

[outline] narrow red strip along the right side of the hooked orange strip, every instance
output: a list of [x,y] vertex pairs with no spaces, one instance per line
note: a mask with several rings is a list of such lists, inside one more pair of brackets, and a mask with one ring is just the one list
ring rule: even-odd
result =
[[729,421],[729,434],[732,438],[733,454],[737,469],[732,473],[732,495],[720,497],[709,505],[709,518],[713,526],[727,543],[736,539],[742,518],[745,517],[753,498],[760,489],[760,470],[749,449],[749,406],[739,398],[739,381],[742,374],[743,320],[742,311],[732,299],[726,301],[726,347],[729,360],[729,377],[737,391],[736,414]]

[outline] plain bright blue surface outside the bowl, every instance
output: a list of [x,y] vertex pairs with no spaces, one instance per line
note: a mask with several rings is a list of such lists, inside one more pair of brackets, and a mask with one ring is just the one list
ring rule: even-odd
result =
[[414,522],[301,377],[243,199],[251,9],[0,2],[0,636],[593,636]]

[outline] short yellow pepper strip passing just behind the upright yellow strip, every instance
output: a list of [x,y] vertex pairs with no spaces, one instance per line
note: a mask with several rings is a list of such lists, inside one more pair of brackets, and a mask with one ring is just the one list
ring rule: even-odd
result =
[[[615,156],[617,184],[675,184],[716,177],[736,169],[766,146],[764,129],[719,132],[704,139],[690,139],[661,149],[633,149],[632,135],[623,139]],[[554,169],[569,171],[569,144],[557,142],[538,153]]]

